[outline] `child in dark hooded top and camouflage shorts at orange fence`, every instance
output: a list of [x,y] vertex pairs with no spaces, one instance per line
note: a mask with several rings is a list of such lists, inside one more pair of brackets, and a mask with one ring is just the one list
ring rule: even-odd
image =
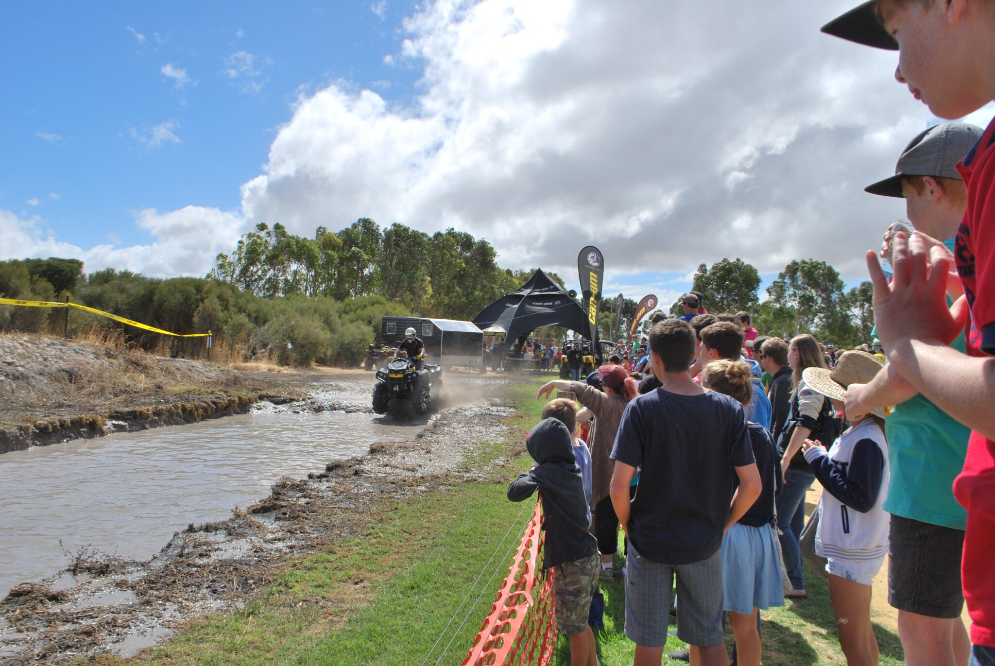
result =
[[528,434],[525,448],[535,465],[511,482],[507,499],[521,502],[536,490],[542,492],[542,568],[553,569],[556,621],[560,633],[570,636],[572,666],[596,666],[594,632],[587,617],[598,588],[598,543],[587,531],[590,510],[570,431],[555,418],[544,419]]

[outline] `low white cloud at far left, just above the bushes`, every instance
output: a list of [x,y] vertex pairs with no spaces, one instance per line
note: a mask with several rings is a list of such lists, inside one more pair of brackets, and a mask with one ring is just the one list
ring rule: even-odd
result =
[[38,216],[18,217],[0,209],[0,260],[67,257],[82,259],[87,272],[113,268],[154,278],[200,276],[211,269],[219,252],[231,252],[245,231],[239,215],[201,206],[165,213],[149,208],[135,212],[134,222],[151,234],[151,243],[84,249],[56,240]]

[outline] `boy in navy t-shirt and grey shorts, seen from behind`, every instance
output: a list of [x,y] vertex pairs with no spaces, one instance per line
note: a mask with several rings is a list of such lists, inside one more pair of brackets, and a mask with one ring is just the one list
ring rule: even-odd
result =
[[[661,322],[650,350],[662,386],[626,407],[611,455],[612,505],[629,540],[625,632],[638,663],[661,661],[676,575],[678,637],[691,646],[694,663],[725,664],[722,537],[760,495],[760,475],[742,405],[701,388],[688,372],[691,326]],[[640,483],[630,504],[636,468]]]

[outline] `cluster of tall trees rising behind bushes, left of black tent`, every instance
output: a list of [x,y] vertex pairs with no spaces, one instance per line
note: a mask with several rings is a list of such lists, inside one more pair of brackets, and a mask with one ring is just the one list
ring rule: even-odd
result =
[[218,255],[211,277],[263,298],[382,296],[420,317],[470,320],[519,285],[496,259],[486,240],[452,228],[429,235],[364,217],[305,238],[260,223],[230,255]]

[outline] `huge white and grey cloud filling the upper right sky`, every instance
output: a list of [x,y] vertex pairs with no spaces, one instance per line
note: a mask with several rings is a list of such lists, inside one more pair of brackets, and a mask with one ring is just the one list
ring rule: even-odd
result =
[[455,226],[502,265],[567,274],[592,242],[633,272],[741,257],[863,275],[902,213],[863,188],[928,111],[894,53],[819,34],[849,2],[436,0],[394,56],[424,67],[413,106],[344,83],[302,96],[244,210],[308,235]]

